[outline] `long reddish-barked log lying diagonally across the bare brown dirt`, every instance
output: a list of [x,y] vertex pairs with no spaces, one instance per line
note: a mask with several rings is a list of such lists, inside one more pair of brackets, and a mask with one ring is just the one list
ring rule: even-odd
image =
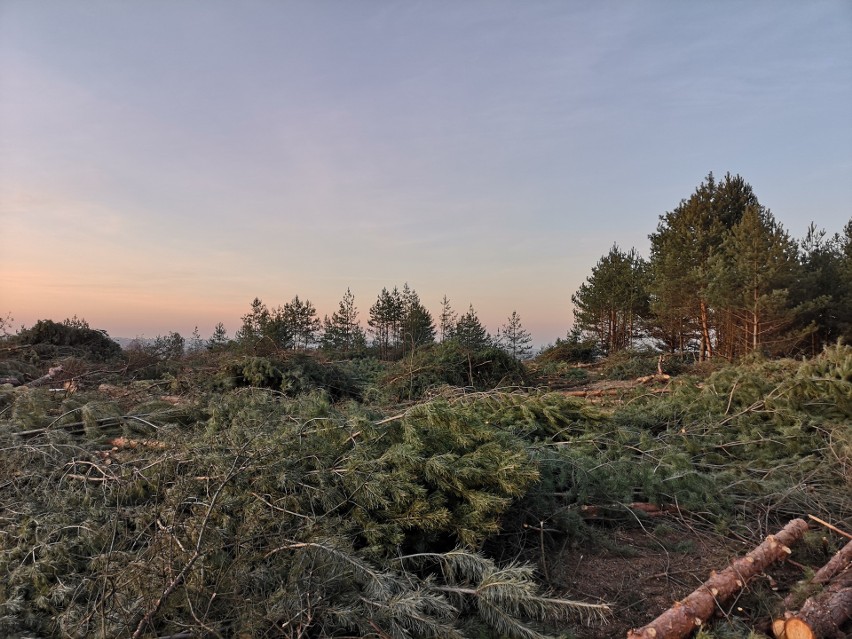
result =
[[685,639],[718,609],[718,605],[741,590],[755,575],[790,554],[790,546],[808,529],[803,519],[789,522],[777,535],[769,535],[745,557],[735,559],[715,573],[686,599],[675,603],[647,626],[627,633],[627,639]]

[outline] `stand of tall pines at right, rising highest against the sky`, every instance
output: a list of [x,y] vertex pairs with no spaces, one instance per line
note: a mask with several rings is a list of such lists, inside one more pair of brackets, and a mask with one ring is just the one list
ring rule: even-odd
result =
[[650,240],[647,260],[613,245],[592,268],[572,296],[575,341],[734,360],[852,339],[852,220],[796,241],[742,177],[711,173]]

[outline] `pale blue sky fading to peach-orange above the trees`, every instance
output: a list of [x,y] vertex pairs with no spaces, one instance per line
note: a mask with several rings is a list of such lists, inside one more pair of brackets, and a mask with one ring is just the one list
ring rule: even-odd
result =
[[0,314],[114,337],[408,283],[564,336],[739,174],[852,217],[848,0],[0,0]]

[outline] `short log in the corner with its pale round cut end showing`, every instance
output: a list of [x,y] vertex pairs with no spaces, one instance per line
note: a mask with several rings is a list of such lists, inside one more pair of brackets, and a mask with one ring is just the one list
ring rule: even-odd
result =
[[842,627],[852,620],[852,567],[835,575],[818,595],[805,601],[797,613],[772,623],[777,639],[845,639]]

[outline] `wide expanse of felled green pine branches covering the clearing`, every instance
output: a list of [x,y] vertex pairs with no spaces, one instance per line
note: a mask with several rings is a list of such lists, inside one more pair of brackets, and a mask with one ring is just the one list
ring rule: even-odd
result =
[[269,388],[177,406],[161,384],[6,386],[0,634],[533,639],[599,620],[496,558],[582,540],[584,506],[741,534],[848,521],[850,363],[843,345],[755,356],[608,408],[457,390],[381,412],[322,384],[289,397],[295,369],[262,358],[233,370]]

